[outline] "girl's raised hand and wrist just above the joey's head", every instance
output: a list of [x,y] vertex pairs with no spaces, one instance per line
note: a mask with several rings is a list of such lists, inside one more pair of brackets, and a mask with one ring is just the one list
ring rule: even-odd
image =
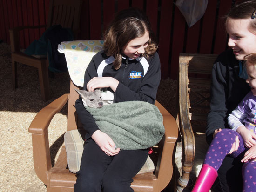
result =
[[118,84],[119,81],[113,77],[94,77],[87,83],[87,90],[94,91],[97,88],[110,87],[115,92]]

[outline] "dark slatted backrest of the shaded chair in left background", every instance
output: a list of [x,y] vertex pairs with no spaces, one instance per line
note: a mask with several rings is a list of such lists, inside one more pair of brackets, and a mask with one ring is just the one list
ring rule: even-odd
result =
[[75,34],[79,33],[81,0],[50,0],[47,28],[61,25],[71,28]]

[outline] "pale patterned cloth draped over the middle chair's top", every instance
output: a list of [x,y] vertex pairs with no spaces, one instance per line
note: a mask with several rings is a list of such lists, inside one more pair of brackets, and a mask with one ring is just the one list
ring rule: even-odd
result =
[[58,51],[65,54],[68,72],[75,85],[83,87],[85,70],[103,44],[104,40],[75,40],[58,45]]

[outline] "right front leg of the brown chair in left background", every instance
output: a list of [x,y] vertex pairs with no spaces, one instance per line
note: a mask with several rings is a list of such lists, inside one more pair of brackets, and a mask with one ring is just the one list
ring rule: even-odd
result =
[[48,64],[46,60],[41,60],[41,65],[38,67],[39,83],[41,90],[41,97],[44,101],[50,99],[49,78],[48,78]]

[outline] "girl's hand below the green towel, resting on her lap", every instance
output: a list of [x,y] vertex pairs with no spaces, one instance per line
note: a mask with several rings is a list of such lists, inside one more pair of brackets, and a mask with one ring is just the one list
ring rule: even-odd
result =
[[119,153],[120,148],[115,149],[114,141],[108,136],[108,134],[97,130],[92,135],[95,143],[105,152],[108,156],[114,156]]

